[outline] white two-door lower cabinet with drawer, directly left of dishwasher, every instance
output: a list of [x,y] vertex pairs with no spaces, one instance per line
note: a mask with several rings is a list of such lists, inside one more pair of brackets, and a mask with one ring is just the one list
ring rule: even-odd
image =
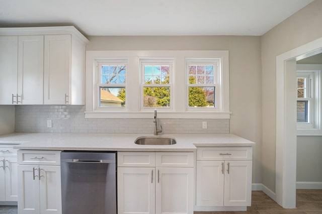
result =
[[[48,162],[50,155],[59,156],[59,152],[18,151],[19,214],[61,213],[60,162],[50,161],[52,165],[42,165]],[[27,158],[35,164],[26,164]]]

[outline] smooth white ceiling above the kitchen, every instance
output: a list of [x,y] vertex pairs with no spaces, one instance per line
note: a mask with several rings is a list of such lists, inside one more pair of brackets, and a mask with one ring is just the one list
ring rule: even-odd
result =
[[261,36],[313,0],[0,0],[0,27],[73,25],[87,36]]

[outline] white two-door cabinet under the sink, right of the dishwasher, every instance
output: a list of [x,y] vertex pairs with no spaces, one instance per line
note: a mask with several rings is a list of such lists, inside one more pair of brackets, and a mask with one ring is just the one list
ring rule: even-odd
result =
[[119,152],[117,170],[118,214],[193,213],[193,153]]

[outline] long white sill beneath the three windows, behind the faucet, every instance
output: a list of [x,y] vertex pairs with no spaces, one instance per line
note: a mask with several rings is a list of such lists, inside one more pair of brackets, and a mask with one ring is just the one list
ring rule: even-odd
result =
[[[230,119],[231,112],[157,112],[158,119]],[[87,119],[152,119],[153,112],[85,112]]]

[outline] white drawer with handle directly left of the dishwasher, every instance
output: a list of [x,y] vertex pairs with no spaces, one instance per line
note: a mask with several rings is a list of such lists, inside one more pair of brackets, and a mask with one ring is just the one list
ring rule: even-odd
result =
[[60,165],[60,151],[18,150],[18,164]]

